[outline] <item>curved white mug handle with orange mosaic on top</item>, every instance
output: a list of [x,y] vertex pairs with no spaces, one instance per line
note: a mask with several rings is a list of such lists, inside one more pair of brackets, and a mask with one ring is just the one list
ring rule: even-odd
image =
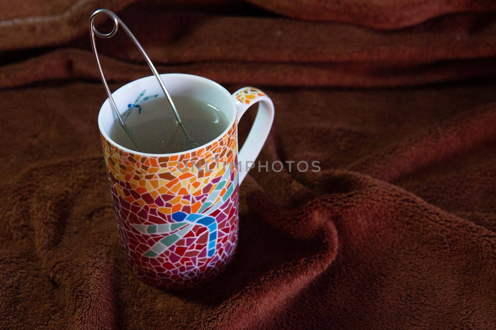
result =
[[265,140],[267,140],[272,122],[274,121],[274,104],[267,94],[254,87],[239,89],[233,94],[233,97],[236,99],[238,124],[245,111],[251,105],[258,102],[258,112],[255,121],[238,155],[238,163],[241,164],[239,166],[239,182],[241,185],[251,168],[248,167],[248,162],[255,162]]

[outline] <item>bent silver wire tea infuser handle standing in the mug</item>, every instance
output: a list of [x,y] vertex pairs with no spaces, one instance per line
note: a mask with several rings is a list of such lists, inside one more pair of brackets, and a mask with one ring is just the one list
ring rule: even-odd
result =
[[[109,32],[109,33],[100,33],[96,29],[96,27],[95,27],[95,18],[97,16],[99,16],[99,15],[106,15],[106,16],[109,16],[112,19],[112,21],[114,23],[114,27],[113,27],[113,29],[112,29],[111,32]],[[125,26],[125,24],[123,23],[123,21],[121,21],[121,19],[119,17],[117,17],[117,15],[114,12],[112,12],[112,11],[110,11],[108,9],[98,9],[90,17],[91,48],[93,49],[93,54],[95,55],[95,61],[96,61],[97,67],[98,67],[98,72],[100,73],[100,77],[102,78],[102,83],[103,83],[103,86],[105,88],[105,92],[107,93],[107,96],[109,97],[110,105],[112,107],[112,110],[114,111],[114,114],[115,114],[116,118],[119,121],[119,124],[123,128],[124,132],[129,136],[129,138],[131,139],[131,141],[136,145],[136,147],[138,148],[138,151],[143,151],[143,149],[139,145],[138,141],[136,141],[136,139],[132,135],[131,131],[129,131],[129,128],[125,125],[124,120],[123,120],[121,114],[119,113],[119,110],[117,109],[117,105],[114,102],[114,97],[112,97],[112,93],[110,93],[110,89],[109,89],[109,85],[107,84],[107,80],[105,80],[105,76],[103,75],[102,66],[100,65],[100,59],[98,58],[98,51],[96,50],[95,34],[98,37],[103,38],[103,39],[112,38],[117,33],[117,30],[119,28],[119,25],[122,26],[122,28],[124,29],[125,33],[127,33],[127,35],[129,36],[129,38],[131,38],[131,40],[134,43],[134,45],[136,45],[136,47],[138,47],[139,51],[141,52],[141,54],[145,58],[146,63],[148,63],[148,66],[152,70],[153,75],[155,76],[155,78],[157,78],[157,81],[158,81],[160,87],[162,88],[162,91],[164,92],[165,97],[167,98],[167,101],[169,101],[169,104],[171,105],[172,111],[174,111],[174,115],[176,116],[176,120],[178,122],[178,125],[181,127],[181,129],[183,130],[184,134],[186,135],[187,140],[189,141],[189,147],[191,149],[192,148],[196,148],[198,146],[198,143],[196,143],[196,142],[194,142],[194,141],[191,140],[191,137],[189,136],[188,132],[186,131],[186,127],[183,125],[183,122],[181,121],[181,117],[179,117],[178,110],[176,109],[176,106],[174,105],[174,102],[173,102],[173,100],[171,98],[171,95],[169,94],[169,92],[167,92],[167,89],[165,88],[164,82],[160,78],[160,75],[158,74],[157,69],[155,69],[155,66],[153,65],[153,63],[150,60],[150,58],[148,57],[148,55],[146,54],[146,52],[143,49],[143,47],[141,47],[141,45],[136,40],[136,38],[131,33],[131,31],[129,31],[129,29],[127,28],[127,26]]]

